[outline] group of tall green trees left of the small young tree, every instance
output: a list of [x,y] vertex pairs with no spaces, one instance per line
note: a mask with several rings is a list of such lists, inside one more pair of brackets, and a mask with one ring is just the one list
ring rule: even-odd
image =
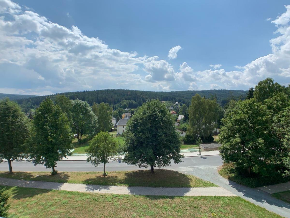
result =
[[21,107],[8,98],[0,101],[0,162],[26,159],[35,165],[52,168],[57,161],[71,155],[73,134],[81,143],[82,136],[93,138],[96,133],[111,128],[112,108],[106,103],[90,107],[86,101],[70,100],[57,95],[55,102],[44,99],[29,119]]

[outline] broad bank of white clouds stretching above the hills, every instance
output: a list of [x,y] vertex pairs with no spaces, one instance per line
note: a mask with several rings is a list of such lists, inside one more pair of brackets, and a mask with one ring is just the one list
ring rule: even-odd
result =
[[[137,90],[248,89],[273,77],[290,79],[290,6],[272,20],[276,26],[271,54],[237,71],[221,64],[195,71],[180,62],[176,69],[158,56],[141,57],[136,51],[112,49],[98,37],[87,37],[77,26],[66,28],[30,8],[0,0],[0,92],[52,94],[76,90],[128,88]],[[168,52],[177,58],[181,47]]]

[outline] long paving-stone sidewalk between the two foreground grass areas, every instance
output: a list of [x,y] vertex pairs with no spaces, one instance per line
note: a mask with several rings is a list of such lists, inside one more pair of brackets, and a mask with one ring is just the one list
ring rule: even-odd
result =
[[166,187],[127,187],[106,185],[85,185],[73,183],[55,183],[43,181],[27,181],[0,178],[0,185],[48,190],[66,190],[77,192],[93,192],[101,194],[135,194],[166,196],[236,196],[222,187],[207,188],[166,188]]

